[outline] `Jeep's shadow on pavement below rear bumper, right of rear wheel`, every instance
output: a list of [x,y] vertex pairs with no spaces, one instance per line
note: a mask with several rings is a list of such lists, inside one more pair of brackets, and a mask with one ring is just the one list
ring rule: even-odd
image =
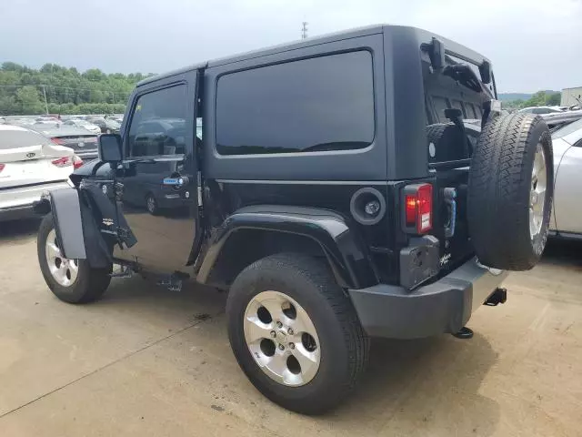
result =
[[478,333],[472,340],[373,340],[359,390],[318,420],[341,428],[357,418],[363,428],[375,423],[373,431],[386,435],[488,436],[500,407],[479,388],[496,361],[497,352]]

